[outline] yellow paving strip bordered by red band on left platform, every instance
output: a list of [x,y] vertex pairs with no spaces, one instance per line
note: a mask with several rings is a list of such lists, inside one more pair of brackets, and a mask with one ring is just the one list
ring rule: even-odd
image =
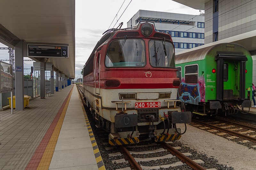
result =
[[61,112],[61,115],[60,115],[60,118],[59,118],[59,121],[58,123],[56,124],[55,126],[55,129],[52,133],[52,137],[48,143],[48,145],[46,146],[46,149],[44,151],[44,155],[37,167],[38,170],[48,170],[49,169],[49,166],[51,164],[51,161],[52,161],[52,155],[53,155],[53,152],[54,152],[54,149],[55,149],[55,146],[57,144],[57,140],[58,140],[58,137],[59,137],[59,134],[60,134],[60,129],[61,129],[61,126],[62,126],[62,123],[63,123],[63,120],[65,118],[65,115],[66,115],[66,112],[67,112],[67,109],[68,109],[68,104],[69,104],[69,101],[70,101],[70,98],[71,98],[71,95],[72,95],[72,92],[73,92],[73,88],[74,88],[74,85],[71,89],[71,92],[68,96],[68,100]]

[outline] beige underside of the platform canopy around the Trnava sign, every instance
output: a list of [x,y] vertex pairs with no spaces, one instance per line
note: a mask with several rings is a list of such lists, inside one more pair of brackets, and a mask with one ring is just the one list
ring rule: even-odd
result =
[[68,44],[69,58],[50,58],[50,62],[74,78],[75,0],[1,0],[0,42],[14,48],[20,40]]

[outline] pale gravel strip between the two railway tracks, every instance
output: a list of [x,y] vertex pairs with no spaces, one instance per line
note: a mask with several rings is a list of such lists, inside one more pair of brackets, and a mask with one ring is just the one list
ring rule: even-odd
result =
[[[177,124],[184,131],[184,124]],[[179,140],[187,147],[214,157],[220,164],[235,169],[256,169],[256,151],[210,132],[187,125],[187,132]]]

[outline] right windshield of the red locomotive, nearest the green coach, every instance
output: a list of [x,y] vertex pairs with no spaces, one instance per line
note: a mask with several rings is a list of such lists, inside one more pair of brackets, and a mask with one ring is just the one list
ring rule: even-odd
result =
[[152,67],[175,68],[174,48],[170,42],[150,40],[149,56]]

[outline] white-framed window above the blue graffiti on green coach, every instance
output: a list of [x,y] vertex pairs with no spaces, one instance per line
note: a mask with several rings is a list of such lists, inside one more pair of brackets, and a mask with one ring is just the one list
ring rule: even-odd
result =
[[185,83],[197,84],[198,81],[198,65],[185,66]]

